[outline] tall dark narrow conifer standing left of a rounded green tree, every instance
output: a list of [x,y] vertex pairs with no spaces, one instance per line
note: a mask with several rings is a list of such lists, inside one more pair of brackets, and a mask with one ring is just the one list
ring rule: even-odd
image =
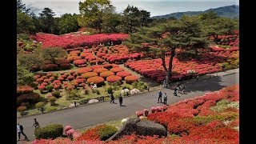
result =
[[42,24],[42,32],[44,33],[53,33],[54,31],[54,12],[50,10],[48,7],[42,10],[40,13],[40,22]]

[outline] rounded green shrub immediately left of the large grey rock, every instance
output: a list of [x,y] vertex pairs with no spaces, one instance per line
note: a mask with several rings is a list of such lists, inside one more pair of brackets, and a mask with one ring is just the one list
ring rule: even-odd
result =
[[110,138],[112,135],[114,135],[118,129],[114,126],[102,126],[98,130],[99,138],[101,138],[102,141],[106,141],[108,138]]

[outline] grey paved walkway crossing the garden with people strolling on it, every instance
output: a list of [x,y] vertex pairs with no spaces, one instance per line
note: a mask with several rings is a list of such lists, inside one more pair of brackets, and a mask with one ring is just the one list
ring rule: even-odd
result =
[[[173,95],[173,90],[162,89],[163,93],[167,93],[167,104],[174,104],[186,98],[194,98],[210,91],[220,90],[225,86],[232,86],[239,83],[239,72],[231,71],[222,74],[222,77],[214,77],[199,82],[193,82],[186,86],[188,94]],[[152,91],[145,94],[123,98],[123,105],[110,104],[110,102],[101,102],[90,106],[80,106],[73,109],[59,110],[53,113],[40,114],[37,116],[29,116],[18,118],[18,122],[24,127],[24,132],[30,140],[34,140],[33,118],[37,118],[40,126],[46,126],[52,123],[60,123],[63,126],[70,125],[74,129],[96,125],[102,122],[108,122],[118,118],[126,118],[134,115],[136,110],[150,109],[151,106],[162,106],[157,103],[158,91]],[[115,100],[118,102],[118,100]],[[18,138],[18,136],[17,136]],[[23,138],[23,137],[22,137]]]

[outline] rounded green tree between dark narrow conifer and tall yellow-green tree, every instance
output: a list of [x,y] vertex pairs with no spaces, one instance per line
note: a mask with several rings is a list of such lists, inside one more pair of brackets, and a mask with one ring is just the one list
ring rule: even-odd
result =
[[67,34],[78,31],[78,15],[77,14],[63,14],[58,22],[59,34]]

